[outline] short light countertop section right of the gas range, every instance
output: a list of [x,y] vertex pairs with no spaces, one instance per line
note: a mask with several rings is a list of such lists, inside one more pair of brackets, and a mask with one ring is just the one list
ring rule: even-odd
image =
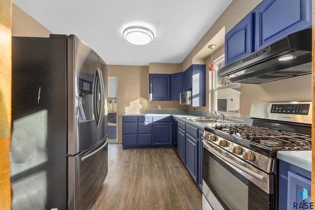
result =
[[287,163],[298,166],[308,171],[312,171],[312,151],[279,151],[277,153],[278,159]]

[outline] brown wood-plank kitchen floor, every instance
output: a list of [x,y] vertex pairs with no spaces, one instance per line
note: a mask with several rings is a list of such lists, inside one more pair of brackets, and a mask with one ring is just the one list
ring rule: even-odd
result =
[[176,151],[108,147],[108,174],[91,210],[202,210],[202,193]]

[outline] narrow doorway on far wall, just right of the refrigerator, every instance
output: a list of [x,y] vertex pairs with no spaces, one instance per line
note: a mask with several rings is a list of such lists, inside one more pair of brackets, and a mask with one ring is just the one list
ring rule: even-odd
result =
[[108,142],[117,143],[117,87],[118,77],[108,77]]

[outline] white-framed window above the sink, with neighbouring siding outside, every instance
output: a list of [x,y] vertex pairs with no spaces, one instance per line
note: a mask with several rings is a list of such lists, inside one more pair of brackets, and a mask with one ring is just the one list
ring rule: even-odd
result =
[[241,117],[241,84],[233,83],[229,79],[219,78],[218,70],[224,67],[224,59],[216,63],[216,71],[212,73],[212,107],[226,116]]

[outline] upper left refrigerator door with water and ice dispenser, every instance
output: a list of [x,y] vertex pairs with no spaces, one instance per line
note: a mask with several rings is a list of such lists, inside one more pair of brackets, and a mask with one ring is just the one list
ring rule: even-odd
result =
[[99,104],[102,105],[103,98],[100,82],[95,80],[99,77],[98,55],[74,35],[70,35],[67,42],[67,154],[71,156],[100,140],[97,128],[99,117],[94,109],[98,105],[98,112],[101,112]]

